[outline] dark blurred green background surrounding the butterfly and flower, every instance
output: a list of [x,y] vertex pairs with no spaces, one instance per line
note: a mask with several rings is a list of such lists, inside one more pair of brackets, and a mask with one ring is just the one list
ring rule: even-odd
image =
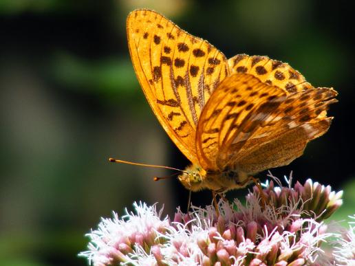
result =
[[[346,1],[0,0],[0,265],[87,265],[84,234],[133,201],[186,208],[169,171],[188,162],[155,119],[133,72],[125,19],[161,12],[227,57],[268,55],[314,86],[338,90],[330,131],[283,177],[345,191],[335,219],[354,214],[354,12]],[[266,173],[259,175],[261,179]],[[231,192],[229,198],[246,191]],[[211,203],[209,192],[193,203]]]

